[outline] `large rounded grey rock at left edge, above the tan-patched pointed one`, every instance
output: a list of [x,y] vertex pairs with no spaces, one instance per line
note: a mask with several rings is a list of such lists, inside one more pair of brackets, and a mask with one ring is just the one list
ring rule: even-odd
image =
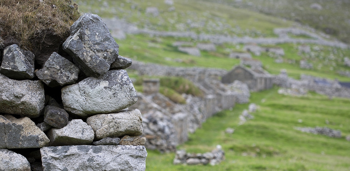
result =
[[38,117],[44,104],[44,85],[40,80],[18,81],[0,74],[0,113]]

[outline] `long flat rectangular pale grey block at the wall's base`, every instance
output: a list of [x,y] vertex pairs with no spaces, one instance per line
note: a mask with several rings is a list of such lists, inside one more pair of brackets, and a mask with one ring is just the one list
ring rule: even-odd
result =
[[77,145],[43,147],[44,171],[144,171],[147,151],[138,145]]

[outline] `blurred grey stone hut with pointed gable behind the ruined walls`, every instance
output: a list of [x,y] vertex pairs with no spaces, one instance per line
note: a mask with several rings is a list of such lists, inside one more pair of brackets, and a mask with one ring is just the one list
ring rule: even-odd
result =
[[239,80],[248,85],[251,91],[261,91],[272,88],[272,76],[262,68],[247,68],[242,65],[234,67],[222,77],[222,83],[229,84]]

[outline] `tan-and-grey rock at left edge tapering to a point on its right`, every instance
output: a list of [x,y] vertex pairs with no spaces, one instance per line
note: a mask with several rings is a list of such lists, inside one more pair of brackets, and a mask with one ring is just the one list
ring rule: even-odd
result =
[[49,138],[28,117],[0,115],[0,148],[41,148]]

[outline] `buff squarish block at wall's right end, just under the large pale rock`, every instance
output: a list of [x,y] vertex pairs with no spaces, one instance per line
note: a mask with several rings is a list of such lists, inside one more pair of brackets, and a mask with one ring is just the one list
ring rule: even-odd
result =
[[98,114],[86,119],[100,140],[105,137],[142,135],[142,115],[138,109],[111,114]]

